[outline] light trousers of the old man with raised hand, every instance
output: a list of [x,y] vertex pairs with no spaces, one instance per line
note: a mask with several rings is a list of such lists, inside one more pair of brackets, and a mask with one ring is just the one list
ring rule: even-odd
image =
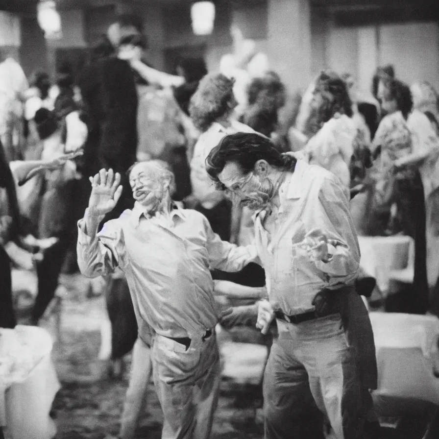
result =
[[218,404],[220,368],[215,334],[181,343],[156,335],[153,377],[162,406],[162,439],[208,439]]

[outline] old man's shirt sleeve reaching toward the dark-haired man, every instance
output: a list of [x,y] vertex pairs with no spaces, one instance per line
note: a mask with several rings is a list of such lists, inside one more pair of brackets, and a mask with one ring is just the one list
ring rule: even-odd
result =
[[242,270],[250,262],[259,263],[255,245],[239,247],[227,241],[221,241],[221,238],[213,232],[207,219],[204,219],[204,227],[211,268],[233,272]]

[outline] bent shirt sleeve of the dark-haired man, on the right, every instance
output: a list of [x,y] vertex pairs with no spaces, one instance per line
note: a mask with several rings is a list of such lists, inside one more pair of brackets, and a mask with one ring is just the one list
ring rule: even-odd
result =
[[318,195],[317,223],[328,238],[328,262],[316,261],[319,270],[330,276],[330,284],[343,278],[355,279],[360,266],[360,247],[343,187],[333,178],[324,180]]

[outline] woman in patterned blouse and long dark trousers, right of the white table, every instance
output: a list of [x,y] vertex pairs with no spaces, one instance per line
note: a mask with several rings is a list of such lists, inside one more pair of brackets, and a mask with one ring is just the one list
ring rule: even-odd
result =
[[[413,284],[416,293],[410,295],[407,312],[425,314],[428,308],[428,282],[426,268],[425,203],[424,188],[419,170],[405,162],[413,152],[413,136],[407,118],[413,107],[409,87],[397,80],[389,79],[382,101],[387,116],[378,126],[372,142],[372,153],[376,161],[377,182],[375,203],[381,211],[380,217],[385,233],[402,231],[415,240],[415,275]],[[395,208],[390,209],[391,206]],[[396,214],[395,214],[396,211]],[[392,212],[392,214],[390,214]],[[389,222],[390,220],[390,222]]]

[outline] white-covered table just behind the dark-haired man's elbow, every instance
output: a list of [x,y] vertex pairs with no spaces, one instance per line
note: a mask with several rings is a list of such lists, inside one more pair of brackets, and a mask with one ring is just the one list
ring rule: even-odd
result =
[[359,236],[358,243],[360,266],[376,278],[383,293],[389,291],[391,271],[411,270],[414,241],[410,236]]

